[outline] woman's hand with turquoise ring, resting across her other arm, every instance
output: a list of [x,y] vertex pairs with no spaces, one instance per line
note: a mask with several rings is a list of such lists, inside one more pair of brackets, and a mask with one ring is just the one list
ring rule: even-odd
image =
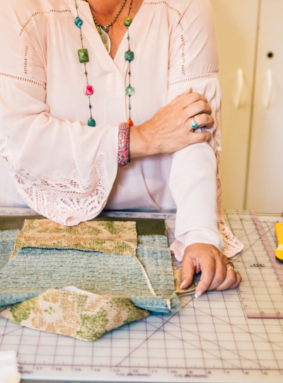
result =
[[192,129],[191,118],[197,125],[211,129],[214,119],[207,99],[190,88],[162,107],[149,121],[130,129],[130,158],[154,154],[171,154],[193,143],[209,141],[212,135]]

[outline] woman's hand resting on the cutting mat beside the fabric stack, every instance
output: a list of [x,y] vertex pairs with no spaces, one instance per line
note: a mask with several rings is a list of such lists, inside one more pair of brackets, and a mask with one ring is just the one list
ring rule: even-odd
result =
[[242,281],[241,275],[233,270],[232,262],[212,244],[195,243],[185,249],[182,261],[182,285],[188,288],[192,284],[195,273],[202,271],[200,282],[197,283],[196,297],[204,291],[222,291],[227,288],[236,288]]

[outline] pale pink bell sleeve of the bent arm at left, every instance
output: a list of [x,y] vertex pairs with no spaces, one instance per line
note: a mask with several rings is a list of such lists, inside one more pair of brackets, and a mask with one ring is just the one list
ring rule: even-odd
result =
[[117,174],[118,128],[52,117],[40,45],[35,39],[26,47],[11,25],[0,15],[0,154],[28,206],[76,225],[106,204]]

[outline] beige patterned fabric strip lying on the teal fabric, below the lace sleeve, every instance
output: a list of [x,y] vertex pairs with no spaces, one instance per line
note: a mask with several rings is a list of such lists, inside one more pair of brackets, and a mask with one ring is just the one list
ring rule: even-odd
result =
[[16,238],[11,259],[22,247],[67,247],[109,254],[135,255],[137,230],[134,221],[86,221],[66,227],[52,220],[25,220]]

